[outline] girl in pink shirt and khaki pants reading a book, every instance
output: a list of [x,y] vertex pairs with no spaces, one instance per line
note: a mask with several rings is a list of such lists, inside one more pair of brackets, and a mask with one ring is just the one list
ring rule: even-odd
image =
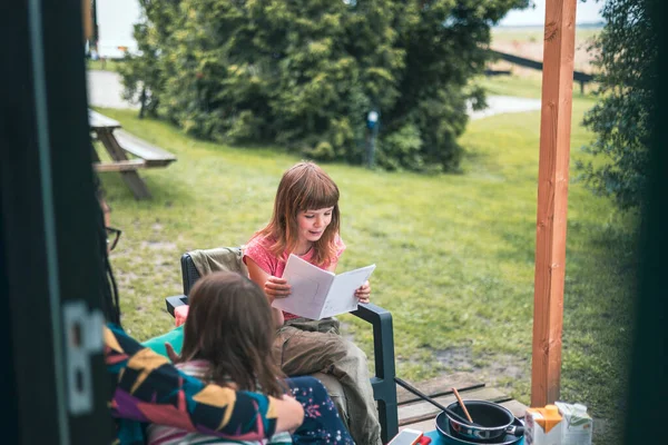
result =
[[[299,162],[281,179],[269,224],[244,248],[249,277],[264,290],[269,304],[285,298],[291,287],[282,278],[291,254],[334,271],[345,249],[341,239],[338,188],[313,162]],[[371,286],[355,290],[369,303]],[[358,445],[381,444],[381,426],[373,399],[365,354],[340,335],[335,318],[312,320],[273,308],[278,327],[274,349],[286,375],[326,373],[343,387],[344,400],[334,398],[344,423]]]

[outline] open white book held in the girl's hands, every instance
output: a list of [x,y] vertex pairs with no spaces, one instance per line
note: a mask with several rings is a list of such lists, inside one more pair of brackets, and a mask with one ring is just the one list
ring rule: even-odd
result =
[[323,319],[357,309],[355,289],[371,277],[375,265],[334,274],[291,255],[283,278],[292,287],[287,298],[272,304],[287,313],[311,319]]

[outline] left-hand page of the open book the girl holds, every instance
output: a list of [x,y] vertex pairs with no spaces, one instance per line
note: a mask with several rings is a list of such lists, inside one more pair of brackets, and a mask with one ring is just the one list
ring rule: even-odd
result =
[[299,317],[320,319],[334,274],[291,255],[283,278],[292,293],[286,298],[274,299],[272,306]]

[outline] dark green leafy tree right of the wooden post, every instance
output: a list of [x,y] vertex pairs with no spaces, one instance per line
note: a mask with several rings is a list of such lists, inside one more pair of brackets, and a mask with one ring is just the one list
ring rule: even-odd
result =
[[629,210],[639,207],[647,186],[656,33],[647,0],[607,0],[602,16],[606,26],[595,42],[600,100],[583,121],[597,136],[584,151],[600,160],[578,168],[593,191]]

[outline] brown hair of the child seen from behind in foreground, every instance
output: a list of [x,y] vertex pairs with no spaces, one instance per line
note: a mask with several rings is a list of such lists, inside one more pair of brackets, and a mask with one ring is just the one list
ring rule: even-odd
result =
[[210,379],[274,397],[284,393],[272,352],[274,322],[264,291],[230,271],[205,275],[193,287],[181,360],[210,363]]

